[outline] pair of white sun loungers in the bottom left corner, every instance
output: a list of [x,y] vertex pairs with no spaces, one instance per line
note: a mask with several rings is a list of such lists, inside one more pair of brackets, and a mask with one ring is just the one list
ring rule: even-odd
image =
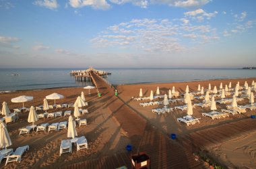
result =
[[8,162],[21,162],[22,155],[24,152],[29,150],[29,146],[19,147],[13,152],[13,149],[7,149],[7,153],[5,153],[5,149],[0,151],[0,163],[3,158],[6,158],[5,166]]

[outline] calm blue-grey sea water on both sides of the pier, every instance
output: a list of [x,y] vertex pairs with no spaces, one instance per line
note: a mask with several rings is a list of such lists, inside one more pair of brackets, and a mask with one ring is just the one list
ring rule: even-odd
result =
[[[82,68],[84,69],[84,68]],[[91,82],[77,82],[69,72],[74,69],[0,69],[0,91],[47,89],[54,87],[84,87]],[[80,69],[77,69],[80,70]],[[256,77],[256,70],[243,69],[104,69],[112,74],[112,84],[151,82],[183,82],[222,78]],[[13,76],[11,74],[20,74]]]

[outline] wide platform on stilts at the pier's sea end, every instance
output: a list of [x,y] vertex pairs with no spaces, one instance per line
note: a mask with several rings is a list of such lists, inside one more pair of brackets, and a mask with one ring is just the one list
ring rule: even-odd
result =
[[104,70],[96,70],[95,68],[88,68],[86,70],[72,70],[70,72],[71,76],[75,77],[77,81],[92,81],[92,76],[90,72],[94,72],[94,74],[98,74],[102,76],[102,78],[106,78],[108,75],[111,75],[110,72],[106,72]]

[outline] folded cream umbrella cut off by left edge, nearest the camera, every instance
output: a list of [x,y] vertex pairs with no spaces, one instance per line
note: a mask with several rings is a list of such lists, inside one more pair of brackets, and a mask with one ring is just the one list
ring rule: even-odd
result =
[[5,148],[5,152],[7,152],[8,146],[11,146],[11,139],[9,137],[5,123],[0,121],[0,148]]

